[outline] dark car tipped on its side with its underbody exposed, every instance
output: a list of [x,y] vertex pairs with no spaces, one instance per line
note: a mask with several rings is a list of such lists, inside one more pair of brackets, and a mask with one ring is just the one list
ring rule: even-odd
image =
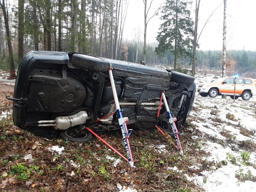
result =
[[129,128],[157,125],[171,132],[160,102],[165,92],[176,126],[182,129],[194,101],[194,77],[126,61],[48,51],[29,52],[19,65],[14,98],[9,97],[14,124],[39,136],[78,142],[92,137],[85,126],[96,131],[120,128],[109,69]]

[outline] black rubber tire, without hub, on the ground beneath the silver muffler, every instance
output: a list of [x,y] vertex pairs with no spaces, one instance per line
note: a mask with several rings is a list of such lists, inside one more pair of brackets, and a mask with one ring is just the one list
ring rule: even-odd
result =
[[[63,139],[70,140],[72,142],[82,142],[85,143],[86,141],[92,139],[92,134],[88,131],[84,132],[83,135],[74,135],[74,131],[77,129],[76,127],[71,127],[66,130],[60,131],[59,132],[59,137]],[[76,133],[78,132],[77,130],[75,131]]]

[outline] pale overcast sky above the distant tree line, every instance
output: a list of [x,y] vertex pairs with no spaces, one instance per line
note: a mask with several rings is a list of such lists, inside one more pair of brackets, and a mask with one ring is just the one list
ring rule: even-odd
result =
[[[147,0],[148,6],[151,0]],[[153,0],[151,15],[165,0]],[[194,0],[195,2],[195,0]],[[220,5],[220,6],[219,6]],[[219,6],[219,8],[217,8]],[[201,0],[199,8],[198,33],[201,32],[206,20],[213,13],[204,27],[198,43],[200,50],[222,50],[223,0]],[[256,0],[227,0],[227,49],[256,51]],[[195,4],[191,6],[194,16]],[[150,16],[151,16],[150,15]],[[124,37],[132,39],[134,28],[141,29],[141,40],[144,34],[143,0],[129,0]],[[152,18],[147,26],[147,43],[156,41],[157,32],[162,21],[159,16]]]

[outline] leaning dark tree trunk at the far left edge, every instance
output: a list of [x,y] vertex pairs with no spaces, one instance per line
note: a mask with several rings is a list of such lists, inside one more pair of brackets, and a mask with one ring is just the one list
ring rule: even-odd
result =
[[9,50],[10,79],[15,79],[16,73],[15,73],[15,66],[14,66],[14,60],[13,60],[13,50],[11,47],[9,18],[8,18],[8,12],[6,11],[5,0],[3,0],[3,3],[0,1],[0,6],[3,11],[3,19],[5,20],[6,38],[7,38],[7,45],[8,45],[8,50]]

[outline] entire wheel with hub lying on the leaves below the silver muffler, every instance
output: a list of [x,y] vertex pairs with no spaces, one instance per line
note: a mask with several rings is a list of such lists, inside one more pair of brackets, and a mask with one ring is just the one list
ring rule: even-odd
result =
[[59,136],[73,142],[86,142],[92,138],[92,134],[88,132],[84,126],[75,126],[59,132]]

